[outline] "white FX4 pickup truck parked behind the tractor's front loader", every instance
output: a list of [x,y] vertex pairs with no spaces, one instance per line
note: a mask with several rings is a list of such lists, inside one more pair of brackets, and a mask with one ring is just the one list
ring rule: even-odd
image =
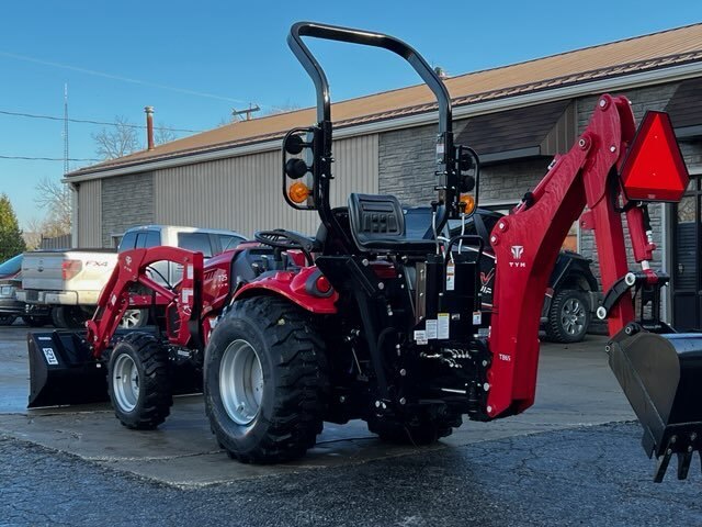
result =
[[[205,258],[236,247],[246,238],[233,231],[145,225],[124,233],[117,249],[69,249],[25,253],[22,260],[22,289],[18,300],[50,307],[57,327],[82,327],[92,316],[102,288],[107,282],[117,254],[134,248],[167,245],[203,253]],[[174,283],[182,272],[169,262],[154,266],[154,278]],[[122,327],[147,323],[148,310],[129,310]]]

